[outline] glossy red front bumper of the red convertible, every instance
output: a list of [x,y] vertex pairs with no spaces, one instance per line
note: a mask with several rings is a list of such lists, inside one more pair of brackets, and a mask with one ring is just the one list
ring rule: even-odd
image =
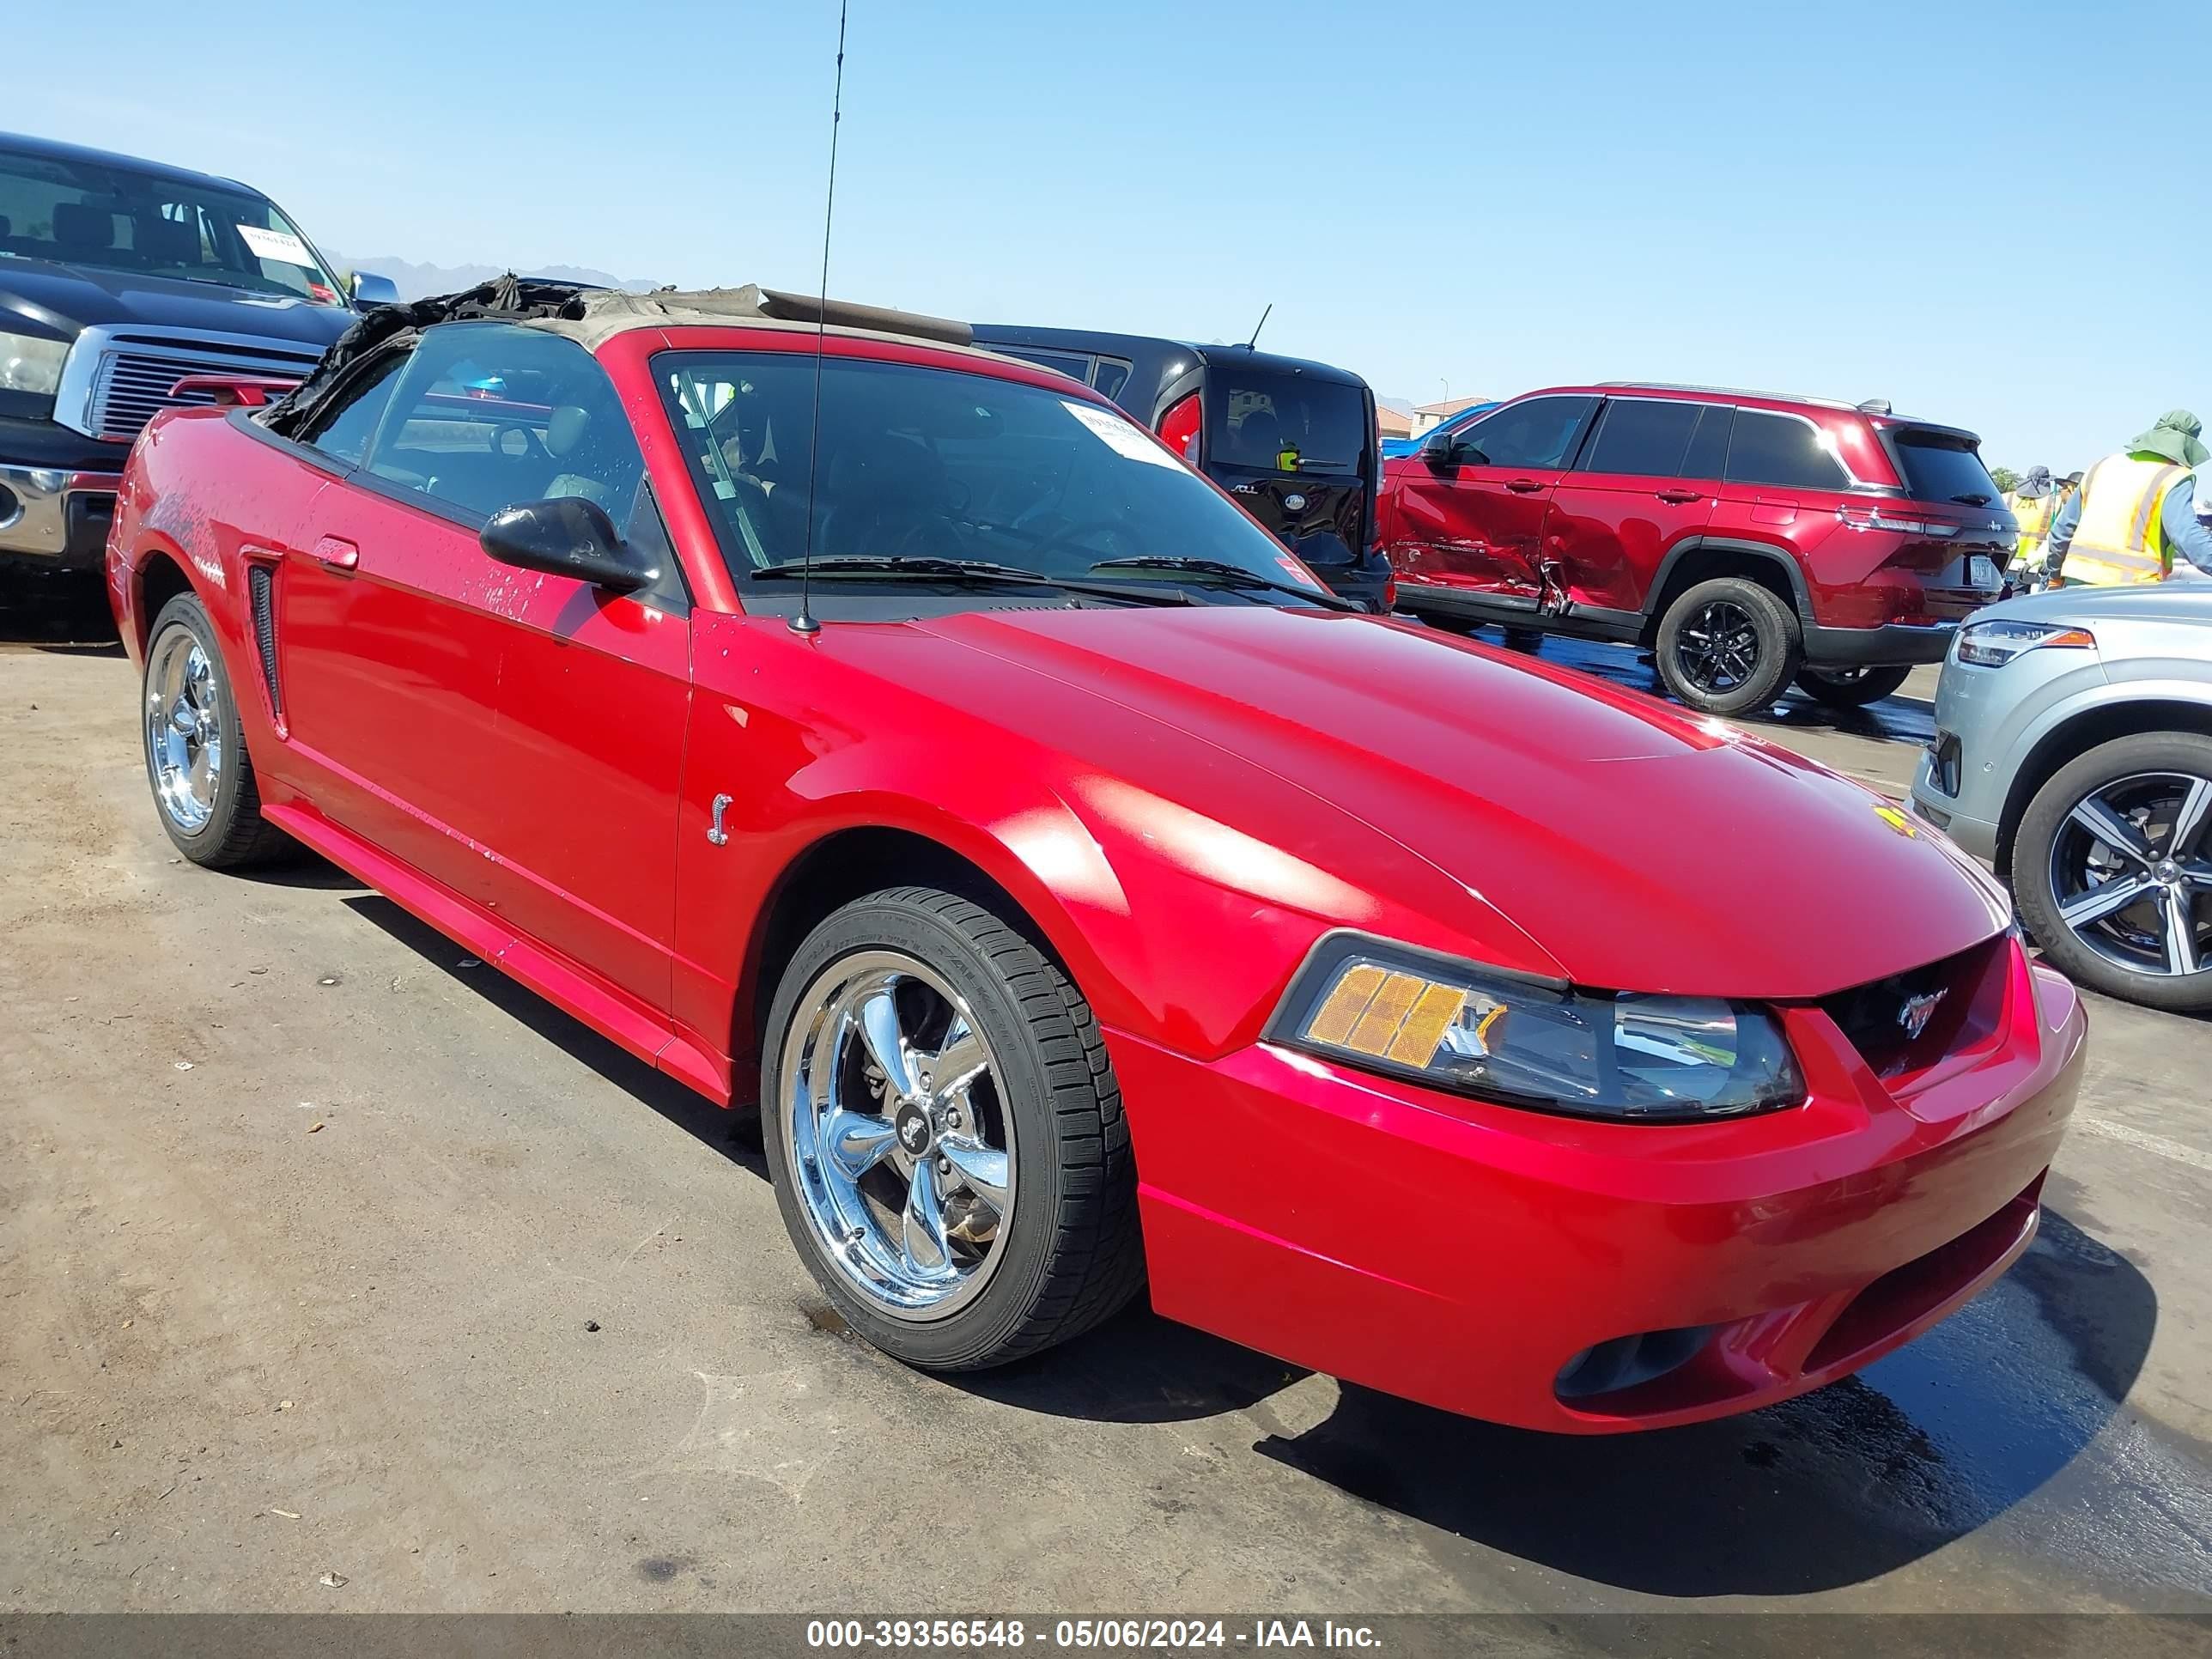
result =
[[[2086,1018],[2011,947],[2004,1018],[1885,1084],[1785,1009],[1805,1106],[1593,1124],[1442,1099],[1259,1044],[1197,1062],[1126,1033],[1152,1305],[1294,1365],[1566,1433],[1747,1411],[1911,1340],[2035,1234]],[[1621,1338],[1688,1358],[1604,1394]]]

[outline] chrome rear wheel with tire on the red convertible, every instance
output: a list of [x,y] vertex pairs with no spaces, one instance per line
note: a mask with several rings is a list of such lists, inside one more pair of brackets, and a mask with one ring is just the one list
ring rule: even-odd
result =
[[139,690],[146,781],[177,852],[208,869],[239,869],[285,852],[288,836],[261,816],[254,761],[215,624],[190,593],[155,617]]

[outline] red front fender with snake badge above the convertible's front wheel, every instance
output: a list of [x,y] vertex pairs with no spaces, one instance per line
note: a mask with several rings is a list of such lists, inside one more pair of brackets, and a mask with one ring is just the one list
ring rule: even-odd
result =
[[[852,830],[964,860],[1022,907],[1104,1024],[1194,1057],[1256,1040],[1332,925],[1407,927],[1327,872],[854,675],[781,624],[692,622],[675,1015],[695,1042],[750,1053],[750,993],[776,971],[754,962],[765,920],[790,872]],[[717,796],[730,796],[719,845]]]

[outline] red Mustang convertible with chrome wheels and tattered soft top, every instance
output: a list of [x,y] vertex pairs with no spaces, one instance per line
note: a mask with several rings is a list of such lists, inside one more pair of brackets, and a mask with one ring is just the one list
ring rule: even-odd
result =
[[920,1367],[1150,1281],[1641,1429],[2026,1248],[2084,1013],[1942,836],[1349,615],[1088,387],[810,305],[509,281],[157,418],[108,580],[186,856],[305,843],[759,1099],[799,1254]]

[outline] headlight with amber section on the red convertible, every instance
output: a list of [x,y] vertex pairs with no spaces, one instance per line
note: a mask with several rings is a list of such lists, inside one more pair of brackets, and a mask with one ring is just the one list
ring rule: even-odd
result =
[[1575,991],[1356,933],[1323,940],[1270,1035],[1502,1106],[1694,1121],[1805,1099],[1774,1015],[1723,998]]

